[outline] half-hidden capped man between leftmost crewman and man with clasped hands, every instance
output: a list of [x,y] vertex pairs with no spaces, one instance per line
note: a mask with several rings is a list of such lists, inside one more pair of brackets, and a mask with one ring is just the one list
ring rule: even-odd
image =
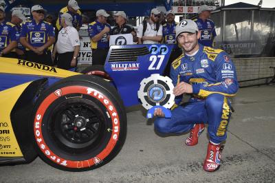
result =
[[20,43],[20,34],[21,34],[21,23],[23,21],[27,21],[27,18],[23,14],[21,10],[14,10],[12,12],[12,19],[11,22],[17,27],[17,48],[16,53],[17,53],[17,58],[25,60],[25,47],[21,45]]

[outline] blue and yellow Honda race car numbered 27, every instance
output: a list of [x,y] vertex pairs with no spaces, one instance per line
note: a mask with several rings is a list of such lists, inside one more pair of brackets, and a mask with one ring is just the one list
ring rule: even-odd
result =
[[109,79],[0,58],[0,164],[37,155],[65,171],[110,162],[126,138],[124,107],[137,105],[143,78],[162,74],[169,45],[111,46]]

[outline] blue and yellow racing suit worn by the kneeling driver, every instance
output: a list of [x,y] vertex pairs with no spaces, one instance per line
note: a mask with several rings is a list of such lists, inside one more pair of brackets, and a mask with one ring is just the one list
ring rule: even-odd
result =
[[[210,141],[219,144],[226,138],[230,119],[228,96],[239,88],[236,69],[223,50],[199,45],[195,56],[182,54],[171,65],[173,85],[184,81],[192,85],[193,97],[184,106],[172,111],[172,118],[157,118],[155,129],[160,133],[181,133],[194,124],[208,123]],[[175,98],[179,104],[181,97]]]

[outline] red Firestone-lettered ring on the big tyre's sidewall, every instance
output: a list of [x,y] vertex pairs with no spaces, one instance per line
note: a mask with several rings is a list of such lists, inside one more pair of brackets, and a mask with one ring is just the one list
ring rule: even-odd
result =
[[[118,142],[119,134],[120,134],[120,116],[118,114],[117,109],[115,109],[115,106],[100,91],[94,88],[90,87],[84,87],[84,86],[68,86],[68,87],[62,87],[61,89],[62,96],[63,97],[67,94],[85,94],[89,95],[91,97],[96,98],[97,100],[106,107],[107,111],[109,112],[109,116],[112,121],[112,134],[111,138],[107,144],[107,147],[104,148],[98,155],[95,157],[91,157],[88,160],[82,160],[82,161],[74,161],[74,160],[66,160],[62,157],[59,157],[56,155],[51,149],[47,146],[42,133],[42,125],[43,125],[43,116],[45,115],[45,112],[47,111],[47,108],[54,103],[54,100],[58,99],[59,97],[56,96],[55,92],[52,92],[49,96],[47,96],[41,105],[39,105],[39,108],[36,111],[36,115],[34,118],[34,137],[36,140],[36,143],[38,144],[41,151],[44,153],[44,155],[55,162],[56,164],[60,164],[61,166],[65,166],[67,168],[87,168],[91,167],[95,164],[95,162],[98,162],[98,160],[104,160],[111,151],[114,149],[115,144]],[[57,90],[57,89],[56,89]],[[97,161],[95,161],[97,160]]]

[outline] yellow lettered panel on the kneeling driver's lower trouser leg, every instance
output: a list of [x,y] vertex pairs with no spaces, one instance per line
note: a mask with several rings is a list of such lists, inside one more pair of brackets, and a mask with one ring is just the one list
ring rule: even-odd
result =
[[230,114],[230,107],[228,105],[227,98],[224,97],[223,113],[221,114],[221,122],[220,122],[219,128],[217,129],[217,136],[225,135],[226,127],[228,126],[229,114]]

